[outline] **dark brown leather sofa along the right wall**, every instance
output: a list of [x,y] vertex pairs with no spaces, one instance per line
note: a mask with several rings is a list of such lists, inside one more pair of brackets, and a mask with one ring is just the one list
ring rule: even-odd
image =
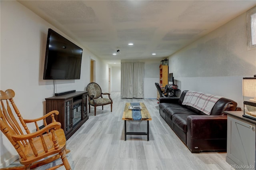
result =
[[236,111],[237,103],[220,98],[210,115],[182,105],[187,91],[180,98],[159,99],[159,113],[192,153],[226,152],[227,116],[224,111]]

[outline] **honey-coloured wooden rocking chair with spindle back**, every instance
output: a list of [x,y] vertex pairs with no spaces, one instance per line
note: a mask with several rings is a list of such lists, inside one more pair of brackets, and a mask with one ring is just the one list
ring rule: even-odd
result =
[[[20,164],[23,165],[14,168],[29,170],[61,158],[62,164],[51,167],[49,170],[54,170],[62,165],[65,166],[66,170],[70,170],[70,164],[66,158],[66,153],[70,152],[66,150],[66,137],[64,131],[60,128],[61,124],[54,119],[54,114],[58,115],[59,112],[51,111],[43,117],[33,120],[23,119],[12,99],[14,95],[15,93],[12,89],[8,89],[5,92],[0,91],[2,105],[0,109],[1,131],[18,152]],[[15,111],[27,134],[23,134],[12,110]],[[49,125],[46,123],[46,117],[48,116],[52,117],[52,123]],[[45,127],[39,129],[38,121],[43,121]],[[27,127],[28,123],[34,123],[37,131],[30,133]]]

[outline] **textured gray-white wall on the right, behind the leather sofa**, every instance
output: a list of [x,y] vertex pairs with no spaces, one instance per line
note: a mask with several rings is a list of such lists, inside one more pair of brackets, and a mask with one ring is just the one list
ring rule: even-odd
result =
[[221,95],[243,109],[242,77],[256,74],[256,49],[247,48],[246,13],[169,57],[179,89]]

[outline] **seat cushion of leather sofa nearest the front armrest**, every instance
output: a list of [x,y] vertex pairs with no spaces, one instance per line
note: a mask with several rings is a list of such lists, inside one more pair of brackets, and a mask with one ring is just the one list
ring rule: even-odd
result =
[[175,114],[172,116],[174,125],[180,128],[183,132],[187,132],[187,117],[190,115],[196,115],[192,111],[182,114]]

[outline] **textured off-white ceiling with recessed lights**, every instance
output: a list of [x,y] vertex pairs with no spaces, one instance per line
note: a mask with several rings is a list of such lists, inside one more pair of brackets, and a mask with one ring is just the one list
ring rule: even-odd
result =
[[19,2],[110,63],[161,60],[256,5],[256,0]]

